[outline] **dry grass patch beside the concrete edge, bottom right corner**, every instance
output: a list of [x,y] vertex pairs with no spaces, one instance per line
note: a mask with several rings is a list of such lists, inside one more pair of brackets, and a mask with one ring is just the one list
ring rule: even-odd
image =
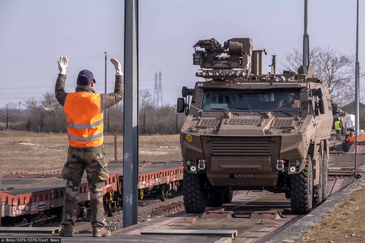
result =
[[[354,191],[296,242],[365,242],[365,188]],[[354,232],[355,235],[351,235]]]

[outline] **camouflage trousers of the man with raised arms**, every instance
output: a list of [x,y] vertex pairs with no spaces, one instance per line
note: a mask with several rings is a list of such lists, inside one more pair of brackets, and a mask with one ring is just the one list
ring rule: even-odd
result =
[[90,193],[91,224],[106,226],[103,207],[104,181],[108,179],[108,168],[104,161],[102,146],[89,149],[69,147],[68,157],[62,169],[62,178],[67,180],[62,222],[74,227],[77,219],[77,192],[86,170]]

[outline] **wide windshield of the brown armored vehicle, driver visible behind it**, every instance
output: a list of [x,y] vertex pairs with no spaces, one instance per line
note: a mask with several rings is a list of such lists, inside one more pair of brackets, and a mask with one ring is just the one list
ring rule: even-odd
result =
[[204,89],[201,109],[300,112],[300,89]]

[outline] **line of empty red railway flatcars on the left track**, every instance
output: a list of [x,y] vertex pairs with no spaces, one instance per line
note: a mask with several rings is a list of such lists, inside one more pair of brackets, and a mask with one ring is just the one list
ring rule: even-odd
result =
[[[113,216],[123,202],[123,163],[108,164],[109,178],[104,183],[104,208]],[[183,180],[181,162],[139,164],[138,196],[143,199],[151,193],[160,193],[165,201],[176,192]],[[28,222],[37,216],[59,214],[64,203],[66,181],[61,178],[61,169],[51,171],[13,171],[1,178],[1,223],[15,222],[26,218]],[[86,216],[89,211],[89,187],[84,173],[77,194],[78,214]]]

